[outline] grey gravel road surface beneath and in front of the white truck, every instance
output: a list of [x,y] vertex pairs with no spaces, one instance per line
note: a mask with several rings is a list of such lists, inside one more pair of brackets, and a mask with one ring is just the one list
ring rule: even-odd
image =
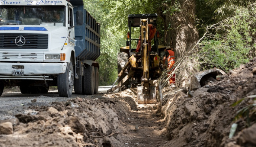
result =
[[[110,87],[111,86],[100,86],[98,90],[99,95],[106,94]],[[77,96],[79,95],[75,95],[73,91],[71,98]],[[36,103],[31,102],[33,99],[36,99]],[[53,88],[47,94],[21,94],[18,87],[7,89],[0,97],[0,120],[13,118],[15,117],[13,114],[17,114],[29,106],[47,106],[51,102],[67,101],[68,99],[70,98],[59,97],[58,91]]]

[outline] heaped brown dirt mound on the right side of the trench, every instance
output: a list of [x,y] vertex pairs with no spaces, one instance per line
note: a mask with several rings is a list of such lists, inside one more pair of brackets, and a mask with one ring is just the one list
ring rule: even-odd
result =
[[[245,98],[231,106],[246,96],[256,95],[256,74],[252,73],[255,68],[256,58],[222,75],[220,81],[209,81],[194,91],[195,97],[192,98],[182,92],[166,95],[162,104],[162,115],[167,116],[166,130],[170,140],[166,146],[256,146],[254,107],[248,113],[251,116],[249,123],[246,117],[236,117],[237,111],[255,101]],[[229,138],[233,123],[238,126],[234,137]]]

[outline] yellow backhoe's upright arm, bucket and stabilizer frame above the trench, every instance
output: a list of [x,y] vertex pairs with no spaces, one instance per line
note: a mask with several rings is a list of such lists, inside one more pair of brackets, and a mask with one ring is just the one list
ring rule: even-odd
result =
[[[112,88],[108,90],[108,93],[112,93],[114,90],[124,85],[124,83],[127,84],[127,80],[130,79],[131,82],[129,82],[131,85],[134,83],[137,85],[138,104],[155,104],[157,103],[157,77],[161,74],[159,66],[160,56],[158,55],[158,50],[157,52],[149,52],[150,38],[148,24],[152,24],[153,20],[156,20],[157,15],[150,14],[144,16],[144,14],[141,14],[142,18],[140,19],[137,19],[138,17],[136,15],[138,14],[131,17],[133,24],[130,24],[129,26],[140,27],[140,52],[135,53],[134,51],[131,51],[130,45],[128,62],[125,63],[118,74],[118,78],[120,77],[122,79],[119,80],[119,83],[116,86],[114,86],[114,83]],[[121,61],[122,60],[120,60],[120,62]],[[129,68],[128,74],[125,73],[127,68]],[[124,76],[124,74],[126,76]]]

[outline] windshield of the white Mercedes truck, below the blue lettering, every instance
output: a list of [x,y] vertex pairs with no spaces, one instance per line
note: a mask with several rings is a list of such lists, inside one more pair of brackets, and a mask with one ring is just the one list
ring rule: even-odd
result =
[[0,7],[0,25],[65,26],[64,6]]

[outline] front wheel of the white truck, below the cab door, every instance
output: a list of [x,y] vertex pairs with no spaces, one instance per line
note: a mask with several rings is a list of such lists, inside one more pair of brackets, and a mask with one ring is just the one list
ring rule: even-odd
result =
[[68,63],[66,72],[57,77],[58,93],[61,97],[71,97],[74,87],[74,69],[72,62]]

